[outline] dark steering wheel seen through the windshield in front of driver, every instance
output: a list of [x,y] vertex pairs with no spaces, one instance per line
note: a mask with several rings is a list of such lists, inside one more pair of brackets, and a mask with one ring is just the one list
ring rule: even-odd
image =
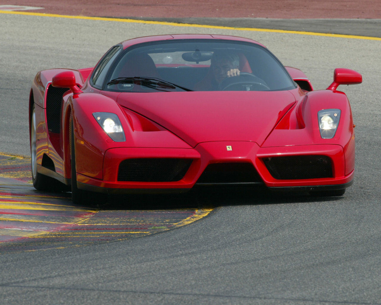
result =
[[240,72],[239,76],[226,77],[219,85],[218,90],[223,91],[265,91],[270,90],[266,82],[259,77]]

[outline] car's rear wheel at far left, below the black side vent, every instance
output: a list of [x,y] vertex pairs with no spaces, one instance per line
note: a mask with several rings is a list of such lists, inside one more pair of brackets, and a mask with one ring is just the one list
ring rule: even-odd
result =
[[66,190],[66,185],[63,183],[37,172],[37,131],[34,105],[30,115],[30,167],[32,168],[32,183],[38,191],[61,192]]

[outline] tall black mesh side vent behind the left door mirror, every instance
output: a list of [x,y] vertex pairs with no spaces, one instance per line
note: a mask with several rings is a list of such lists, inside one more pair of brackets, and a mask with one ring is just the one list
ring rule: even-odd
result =
[[69,88],[49,86],[46,94],[46,120],[50,132],[59,133],[62,95]]

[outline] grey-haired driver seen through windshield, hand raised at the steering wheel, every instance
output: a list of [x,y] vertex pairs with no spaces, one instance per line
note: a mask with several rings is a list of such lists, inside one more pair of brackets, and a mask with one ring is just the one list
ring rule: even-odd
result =
[[210,64],[210,71],[207,76],[196,83],[196,91],[218,90],[218,85],[226,77],[239,76],[239,56],[226,51],[216,51],[213,53]]

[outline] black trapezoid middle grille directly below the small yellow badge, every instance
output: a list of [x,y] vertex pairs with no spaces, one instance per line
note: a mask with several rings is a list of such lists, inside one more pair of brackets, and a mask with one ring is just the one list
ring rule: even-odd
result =
[[251,163],[213,163],[201,174],[197,184],[263,183]]

